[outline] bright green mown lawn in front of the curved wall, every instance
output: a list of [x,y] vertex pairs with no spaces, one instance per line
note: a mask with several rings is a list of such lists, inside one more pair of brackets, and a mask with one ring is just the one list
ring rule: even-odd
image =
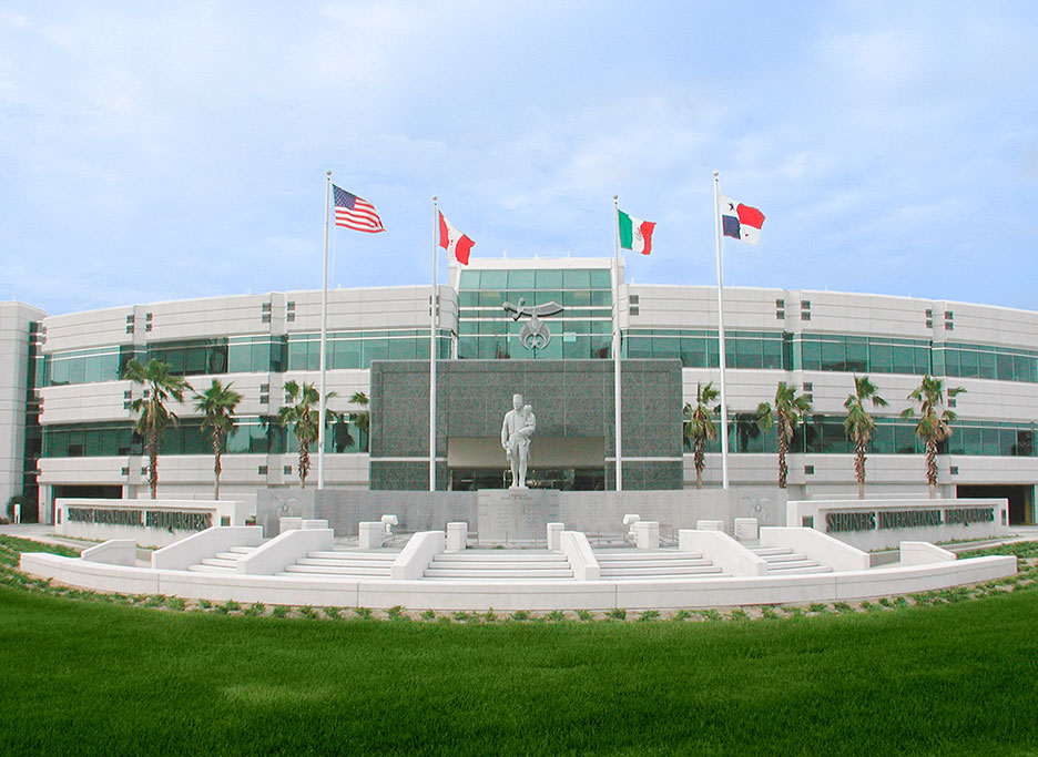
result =
[[1038,749],[1030,587],[752,622],[461,624],[0,586],[0,750],[13,754]]

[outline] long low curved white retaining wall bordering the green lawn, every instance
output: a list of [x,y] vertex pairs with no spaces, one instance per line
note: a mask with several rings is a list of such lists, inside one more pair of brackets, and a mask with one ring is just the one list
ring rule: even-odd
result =
[[441,611],[670,610],[838,602],[925,592],[1016,573],[1016,557],[989,556],[814,575],[612,581],[451,581],[235,575],[154,570],[24,553],[21,570],[104,592],[216,602]]

